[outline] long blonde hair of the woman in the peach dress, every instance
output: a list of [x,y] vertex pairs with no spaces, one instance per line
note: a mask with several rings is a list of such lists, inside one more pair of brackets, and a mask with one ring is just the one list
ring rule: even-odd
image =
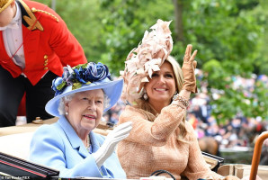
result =
[[[172,68],[173,68],[174,76],[175,76],[176,91],[179,93],[182,90],[182,87],[183,87],[183,71],[182,71],[182,68],[181,68],[180,64],[176,61],[176,59],[173,58],[172,56],[168,56],[168,58],[166,58],[165,60],[167,62],[169,62],[171,64]],[[143,98],[143,95],[138,100],[136,100],[136,103],[137,104],[134,105],[134,106],[145,111],[144,115],[147,117],[148,121],[155,121],[158,113],[150,105],[150,103],[148,103],[147,100],[145,100]],[[185,120],[186,120],[186,113],[184,115],[183,121],[179,125],[179,129],[181,131],[181,134],[178,135],[178,137],[177,137],[178,140],[182,140],[182,141],[183,141],[183,138],[187,134],[187,130],[185,128]]]

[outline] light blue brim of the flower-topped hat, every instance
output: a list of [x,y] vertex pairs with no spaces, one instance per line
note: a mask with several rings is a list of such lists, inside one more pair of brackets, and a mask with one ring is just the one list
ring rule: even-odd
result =
[[106,107],[103,110],[103,112],[106,112],[110,108],[112,108],[115,103],[117,103],[117,101],[121,97],[122,88],[123,79],[110,81],[108,78],[103,79],[103,81],[91,83],[90,85],[82,85],[82,87],[75,90],[72,90],[72,86],[67,86],[62,94],[58,94],[46,104],[45,109],[47,112],[49,112],[49,114],[59,117],[60,114],[58,112],[58,105],[62,97],[83,91],[103,89],[104,94],[106,94],[110,99],[109,107]]

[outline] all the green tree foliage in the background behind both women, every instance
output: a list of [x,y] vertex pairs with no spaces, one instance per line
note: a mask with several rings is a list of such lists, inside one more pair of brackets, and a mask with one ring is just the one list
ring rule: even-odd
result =
[[[257,83],[251,95],[232,88],[236,76],[267,75],[267,8],[266,0],[58,0],[56,11],[84,47],[86,57],[107,64],[114,76],[124,69],[125,58],[145,30],[157,19],[173,21],[172,55],[182,64],[187,44],[198,49],[196,60],[204,75],[199,83],[208,83],[210,95],[221,94],[211,104],[213,114],[224,121],[237,112],[268,118],[267,85]],[[177,9],[182,10],[179,18]]]

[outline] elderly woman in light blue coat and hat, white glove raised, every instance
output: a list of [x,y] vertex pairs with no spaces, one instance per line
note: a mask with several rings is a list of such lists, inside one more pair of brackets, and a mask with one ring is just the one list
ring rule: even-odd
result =
[[93,132],[120,98],[122,79],[111,81],[108,67],[90,62],[64,67],[52,84],[56,94],[46,111],[59,119],[34,133],[30,160],[58,169],[60,177],[126,178],[114,148],[129,135],[131,123],[116,127],[106,139]]

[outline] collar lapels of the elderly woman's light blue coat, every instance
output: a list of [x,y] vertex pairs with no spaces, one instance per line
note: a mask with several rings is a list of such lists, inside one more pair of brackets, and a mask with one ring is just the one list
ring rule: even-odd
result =
[[[67,121],[66,117],[64,115],[61,115],[58,119],[59,125],[62,127],[62,129],[65,131],[65,134],[67,135],[67,139],[69,140],[71,146],[73,148],[76,148],[80,155],[83,157],[87,157],[89,155],[87,149],[85,148],[85,145],[80,139],[76,133],[76,130],[72,127],[72,125]],[[90,139],[91,139],[91,146],[93,153],[96,152],[100,146],[103,144],[103,139],[100,139],[99,136],[97,136],[93,131],[89,133]]]

